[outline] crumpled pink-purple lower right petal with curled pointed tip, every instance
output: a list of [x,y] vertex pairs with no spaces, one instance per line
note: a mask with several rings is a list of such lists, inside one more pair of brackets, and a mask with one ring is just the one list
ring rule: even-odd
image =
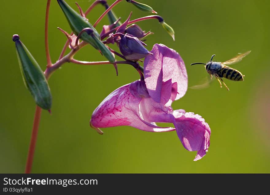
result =
[[193,112],[181,113],[174,111],[174,126],[183,146],[189,151],[198,151],[194,161],[206,154],[210,145],[211,130],[200,115]]

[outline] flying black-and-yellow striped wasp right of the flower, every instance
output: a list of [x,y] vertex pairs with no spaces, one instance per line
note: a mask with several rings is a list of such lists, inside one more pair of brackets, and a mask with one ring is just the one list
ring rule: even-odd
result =
[[[223,77],[225,77],[226,79],[229,80],[234,80],[234,81],[241,81],[244,80],[244,76],[242,75],[242,73],[236,69],[233,69],[227,65],[231,65],[231,64],[235,64],[237,62],[240,62],[245,56],[247,56],[251,51],[248,51],[246,53],[243,54],[239,54],[238,56],[227,60],[226,62],[215,62],[212,61],[213,57],[215,56],[215,54],[211,57],[211,60],[209,62],[207,62],[207,64],[205,63],[193,63],[190,65],[194,65],[194,64],[204,64],[206,71],[208,74],[210,74],[211,79],[213,77],[213,75],[216,77],[216,79],[218,80],[220,87],[222,87],[221,81],[224,84],[224,86],[226,87],[226,89],[229,91],[229,88],[227,87],[227,85],[224,83],[223,81]],[[221,80],[221,81],[220,81]]]

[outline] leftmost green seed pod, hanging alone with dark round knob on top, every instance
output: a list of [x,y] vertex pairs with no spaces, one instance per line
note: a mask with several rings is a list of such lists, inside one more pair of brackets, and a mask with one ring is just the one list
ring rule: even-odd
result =
[[48,82],[37,61],[19,39],[20,37],[16,34],[12,37],[12,40],[15,42],[24,84],[34,97],[37,105],[45,110],[50,110],[52,95]]

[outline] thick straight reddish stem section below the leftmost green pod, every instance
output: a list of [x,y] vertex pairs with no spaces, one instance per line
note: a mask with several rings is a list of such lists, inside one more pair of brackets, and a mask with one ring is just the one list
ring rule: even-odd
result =
[[25,173],[31,173],[35,147],[36,147],[36,142],[37,142],[37,132],[38,132],[40,116],[41,116],[41,107],[36,106],[35,118],[34,118],[33,129],[32,129],[32,136],[31,136],[28,157],[27,157],[26,166],[25,166]]

